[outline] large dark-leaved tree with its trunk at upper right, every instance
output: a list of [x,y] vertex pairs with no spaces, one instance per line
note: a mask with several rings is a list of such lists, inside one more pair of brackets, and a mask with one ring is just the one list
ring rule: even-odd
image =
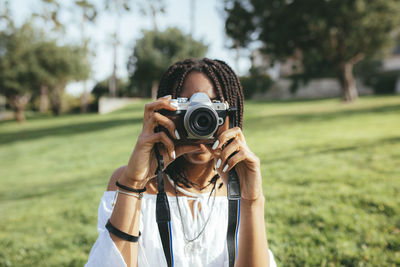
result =
[[225,0],[226,33],[240,46],[261,41],[263,52],[284,59],[299,49],[305,71],[336,73],[343,100],[357,98],[354,65],[390,47],[398,37],[398,0]]

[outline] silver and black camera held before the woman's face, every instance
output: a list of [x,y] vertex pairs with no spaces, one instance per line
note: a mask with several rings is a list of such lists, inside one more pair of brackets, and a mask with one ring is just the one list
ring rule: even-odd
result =
[[[164,109],[158,112],[175,123],[180,136],[180,139],[175,140],[175,143],[179,144],[213,143],[218,129],[225,125],[227,121],[230,121],[227,118],[233,115],[236,110],[234,107],[229,107],[227,102],[211,101],[205,93],[195,93],[190,99],[178,97],[170,101],[175,103],[177,107],[175,111]],[[158,130],[169,135],[169,132],[162,126],[159,126]]]

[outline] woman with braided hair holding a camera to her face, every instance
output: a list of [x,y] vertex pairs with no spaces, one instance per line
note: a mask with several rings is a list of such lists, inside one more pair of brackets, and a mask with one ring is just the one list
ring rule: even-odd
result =
[[276,266],[236,74],[220,60],[180,61],[157,97],[101,199],[86,266]]

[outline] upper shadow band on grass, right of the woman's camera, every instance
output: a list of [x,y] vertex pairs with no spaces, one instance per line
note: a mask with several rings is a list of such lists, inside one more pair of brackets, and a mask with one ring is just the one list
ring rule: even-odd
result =
[[[380,107],[370,107],[363,109],[353,110],[339,110],[333,112],[319,112],[319,113],[298,113],[293,110],[292,114],[278,114],[278,115],[266,115],[263,117],[252,117],[244,120],[247,127],[263,127],[265,130],[274,129],[276,127],[289,125],[290,123],[303,123],[303,122],[316,122],[316,121],[328,121],[335,120],[338,118],[351,117],[362,114],[385,114],[385,113],[400,113],[400,105],[386,105]],[[399,114],[400,117],[400,114]],[[399,120],[400,121],[400,120]],[[400,126],[399,126],[400,127]]]

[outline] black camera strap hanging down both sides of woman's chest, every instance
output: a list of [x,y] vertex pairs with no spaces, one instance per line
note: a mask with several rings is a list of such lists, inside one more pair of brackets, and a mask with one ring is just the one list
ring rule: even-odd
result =
[[[233,114],[235,108],[230,108],[229,114],[229,128],[233,128],[234,120]],[[168,267],[174,266],[174,256],[172,248],[172,230],[171,230],[171,213],[168,203],[168,197],[164,190],[164,179],[162,170],[164,169],[164,161],[158,150],[157,144],[154,145],[158,167],[156,171],[158,182],[158,194],[156,202],[156,221],[158,224],[158,231],[161,238],[161,243],[164,250],[165,259]],[[237,234],[239,229],[240,219],[240,183],[239,177],[235,168],[231,169],[228,173],[228,229],[227,229],[227,247],[229,256],[229,267],[235,265],[237,253]]]

